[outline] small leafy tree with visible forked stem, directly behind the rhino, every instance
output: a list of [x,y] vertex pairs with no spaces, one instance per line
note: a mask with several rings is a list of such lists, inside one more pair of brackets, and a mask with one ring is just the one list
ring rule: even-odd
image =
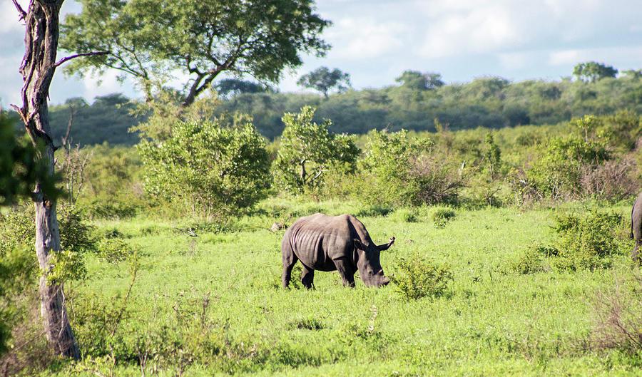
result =
[[285,113],[285,129],[273,165],[275,183],[283,190],[300,193],[322,185],[328,170],[347,172],[355,169],[360,153],[348,135],[330,133],[332,121],[312,122],[315,109],[301,108],[300,113]]

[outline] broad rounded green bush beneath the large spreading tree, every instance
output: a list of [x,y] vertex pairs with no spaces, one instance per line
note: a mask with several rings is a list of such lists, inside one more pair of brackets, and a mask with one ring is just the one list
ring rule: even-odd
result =
[[249,123],[178,123],[164,143],[138,145],[143,183],[153,197],[206,216],[238,212],[266,195],[269,162],[263,138]]

